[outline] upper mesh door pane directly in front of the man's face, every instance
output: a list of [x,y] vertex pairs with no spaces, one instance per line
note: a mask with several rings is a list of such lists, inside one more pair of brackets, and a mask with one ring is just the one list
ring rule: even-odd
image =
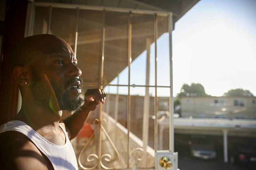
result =
[[85,83],[99,83],[101,42],[102,11],[79,10],[76,56]]

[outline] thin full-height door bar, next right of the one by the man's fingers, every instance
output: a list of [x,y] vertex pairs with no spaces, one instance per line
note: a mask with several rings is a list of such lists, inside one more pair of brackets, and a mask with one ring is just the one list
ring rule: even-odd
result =
[[131,68],[130,64],[132,62],[132,22],[131,22],[131,11],[129,12],[128,16],[128,95],[127,95],[127,169],[129,169],[129,140],[130,140],[130,107],[131,107],[131,96],[130,96],[130,74],[131,74]]

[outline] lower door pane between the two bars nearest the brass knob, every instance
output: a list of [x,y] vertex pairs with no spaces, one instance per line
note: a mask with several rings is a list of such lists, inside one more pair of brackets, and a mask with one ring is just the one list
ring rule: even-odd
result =
[[155,88],[135,87],[130,93],[130,167],[154,167]]

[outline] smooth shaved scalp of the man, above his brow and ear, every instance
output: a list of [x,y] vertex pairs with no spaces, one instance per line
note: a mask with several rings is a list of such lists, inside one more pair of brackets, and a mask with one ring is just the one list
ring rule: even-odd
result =
[[23,38],[14,47],[11,60],[12,67],[25,66],[45,54],[57,52],[57,50],[71,51],[70,45],[62,38],[51,34],[39,34]]

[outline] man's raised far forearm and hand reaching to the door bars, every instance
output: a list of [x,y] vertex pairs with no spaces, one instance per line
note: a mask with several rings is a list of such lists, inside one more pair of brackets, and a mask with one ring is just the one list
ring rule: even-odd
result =
[[84,122],[89,117],[92,110],[97,108],[99,103],[104,103],[106,94],[101,89],[89,89],[85,93],[85,103],[81,110],[76,111],[73,115],[63,120],[70,139],[75,138],[79,130],[83,127]]

